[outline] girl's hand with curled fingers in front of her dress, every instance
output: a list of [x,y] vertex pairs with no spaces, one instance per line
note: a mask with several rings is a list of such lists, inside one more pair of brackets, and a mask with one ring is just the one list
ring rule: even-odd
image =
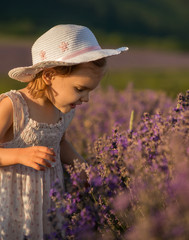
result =
[[44,171],[46,167],[51,167],[48,161],[55,162],[55,152],[52,148],[44,146],[34,146],[18,148],[17,163]]

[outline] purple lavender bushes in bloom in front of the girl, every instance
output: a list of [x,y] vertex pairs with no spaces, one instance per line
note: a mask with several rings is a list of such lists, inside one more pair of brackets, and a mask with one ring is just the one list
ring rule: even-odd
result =
[[67,132],[87,163],[65,166],[65,193],[54,183],[46,239],[189,239],[188,132],[189,92],[98,89]]

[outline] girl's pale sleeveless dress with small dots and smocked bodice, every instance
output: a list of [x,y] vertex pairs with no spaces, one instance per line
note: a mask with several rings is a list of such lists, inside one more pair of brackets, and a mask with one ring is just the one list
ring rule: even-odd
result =
[[[0,240],[42,240],[52,231],[47,211],[52,207],[49,192],[59,179],[64,190],[63,169],[60,161],[60,141],[70,124],[74,110],[60,113],[56,124],[39,123],[29,116],[28,106],[19,91],[0,95],[9,97],[13,104],[13,140],[0,144],[3,148],[47,146],[56,153],[55,166],[45,171],[17,164],[0,167]],[[27,156],[26,156],[27,161]]]

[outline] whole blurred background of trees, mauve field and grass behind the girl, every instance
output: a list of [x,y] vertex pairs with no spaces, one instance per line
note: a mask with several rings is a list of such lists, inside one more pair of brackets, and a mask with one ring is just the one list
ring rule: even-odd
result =
[[109,58],[102,81],[124,89],[165,91],[175,97],[188,88],[188,0],[3,1],[0,14],[0,92],[23,87],[7,72],[31,65],[31,46],[57,24],[89,27],[102,47],[128,46]]

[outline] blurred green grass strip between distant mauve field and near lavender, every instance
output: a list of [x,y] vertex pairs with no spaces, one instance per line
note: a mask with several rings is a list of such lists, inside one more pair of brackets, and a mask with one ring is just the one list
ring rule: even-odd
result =
[[[189,88],[188,78],[189,70],[187,69],[109,71],[101,85],[105,89],[112,85],[117,90],[122,90],[132,82],[135,89],[165,91],[167,95],[175,98],[179,92],[185,92]],[[25,85],[0,75],[0,93],[23,88]]]

